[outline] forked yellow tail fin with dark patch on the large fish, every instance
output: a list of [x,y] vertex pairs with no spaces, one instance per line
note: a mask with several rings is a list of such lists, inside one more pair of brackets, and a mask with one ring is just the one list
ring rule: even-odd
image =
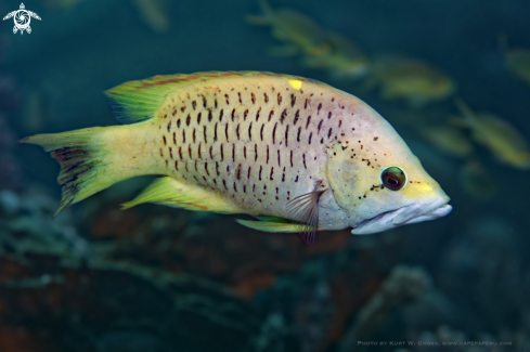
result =
[[37,134],[25,138],[21,143],[37,144],[50,152],[61,164],[57,182],[63,186],[61,206],[55,218],[70,204],[78,203],[114,183],[125,180],[109,167],[112,151],[101,138],[108,128],[88,128],[82,130]]

